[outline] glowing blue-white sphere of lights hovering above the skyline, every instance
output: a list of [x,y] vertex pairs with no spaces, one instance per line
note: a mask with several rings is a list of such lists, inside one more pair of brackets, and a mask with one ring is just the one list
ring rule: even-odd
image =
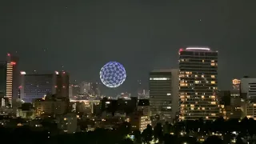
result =
[[108,87],[118,87],[126,80],[126,70],[119,62],[108,62],[99,72],[102,83]]

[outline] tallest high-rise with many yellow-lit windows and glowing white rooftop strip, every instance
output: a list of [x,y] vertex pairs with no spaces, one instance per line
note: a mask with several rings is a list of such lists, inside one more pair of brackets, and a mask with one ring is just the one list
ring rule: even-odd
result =
[[218,51],[188,47],[178,52],[179,119],[218,118]]

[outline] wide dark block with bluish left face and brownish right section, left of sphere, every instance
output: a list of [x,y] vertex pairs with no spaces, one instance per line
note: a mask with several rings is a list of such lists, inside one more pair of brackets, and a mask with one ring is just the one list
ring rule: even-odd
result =
[[24,102],[33,102],[47,94],[69,98],[69,76],[66,72],[51,74],[26,74],[21,72],[20,97]]

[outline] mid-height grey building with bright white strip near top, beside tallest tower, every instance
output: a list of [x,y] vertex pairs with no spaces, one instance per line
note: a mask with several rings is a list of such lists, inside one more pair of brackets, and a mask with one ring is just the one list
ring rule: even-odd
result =
[[[175,71],[177,71],[176,74]],[[174,73],[173,76],[172,73]],[[173,113],[175,113],[174,110],[178,110],[178,107],[173,107],[175,106],[173,105],[175,102],[173,97],[177,97],[176,102],[178,103],[177,73],[178,70],[153,70],[150,72],[150,110],[152,116],[159,115],[162,120],[170,121]],[[177,91],[176,95],[172,95],[175,94],[175,90]]]

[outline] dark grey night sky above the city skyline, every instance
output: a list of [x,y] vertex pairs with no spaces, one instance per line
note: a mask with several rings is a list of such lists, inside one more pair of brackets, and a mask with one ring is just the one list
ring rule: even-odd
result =
[[[70,71],[99,81],[109,61],[126,67],[116,91],[147,87],[154,68],[178,67],[178,49],[219,52],[219,88],[256,76],[255,0],[1,0],[0,58],[18,51],[22,70]],[[111,90],[109,90],[111,91]]]

